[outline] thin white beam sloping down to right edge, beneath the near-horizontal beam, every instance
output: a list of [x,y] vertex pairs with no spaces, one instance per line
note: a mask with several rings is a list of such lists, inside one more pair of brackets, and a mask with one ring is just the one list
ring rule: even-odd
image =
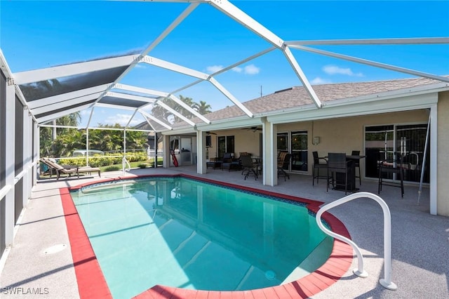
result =
[[340,59],[349,60],[349,61],[352,61],[352,62],[358,62],[358,63],[361,63],[363,65],[370,65],[372,67],[380,67],[382,69],[389,69],[391,71],[402,72],[402,73],[406,73],[406,74],[412,74],[412,75],[415,75],[415,76],[418,76],[418,77],[424,77],[424,78],[434,79],[434,80],[438,80],[438,81],[449,82],[449,78],[436,76],[434,74],[419,72],[419,71],[415,71],[413,69],[406,69],[405,67],[396,67],[395,65],[387,65],[387,64],[382,63],[382,62],[375,62],[373,60],[366,60],[366,59],[362,59],[362,58],[355,58],[354,56],[333,53],[333,52],[319,50],[319,49],[315,49],[315,48],[309,48],[309,47],[306,47],[306,46],[293,45],[291,47],[292,48],[296,48],[298,50],[302,50],[302,51],[307,51],[307,52],[311,52],[311,53],[316,53],[316,54],[330,56],[330,57],[333,57],[333,58],[340,58]]

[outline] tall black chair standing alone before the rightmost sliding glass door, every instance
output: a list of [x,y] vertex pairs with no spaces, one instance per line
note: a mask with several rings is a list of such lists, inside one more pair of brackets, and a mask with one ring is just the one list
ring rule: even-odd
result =
[[[383,159],[378,164],[379,170],[379,186],[377,194],[382,191],[382,185],[399,187],[401,188],[401,197],[404,197],[404,169],[407,168],[406,164],[403,164],[404,155],[400,153],[394,153],[393,159]],[[396,173],[396,181],[393,174]],[[384,177],[390,177],[392,180],[384,181]]]

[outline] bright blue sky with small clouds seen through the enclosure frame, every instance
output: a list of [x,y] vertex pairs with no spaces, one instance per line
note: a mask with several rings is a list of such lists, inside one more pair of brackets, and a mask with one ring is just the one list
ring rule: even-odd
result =
[[[231,1],[285,41],[449,36],[449,1]],[[0,1],[0,47],[13,72],[142,51],[188,4],[128,1]],[[212,73],[266,48],[267,41],[201,4],[149,55]],[[449,74],[449,45],[315,46],[391,65]],[[347,60],[292,50],[311,84],[411,77]],[[301,85],[272,51],[216,77],[241,102]],[[171,92],[195,79],[150,66],[122,83]],[[176,95],[233,105],[208,82]],[[125,124],[132,112],[96,108],[93,125]],[[86,115],[86,113],[83,113]],[[87,117],[83,117],[85,124]],[[140,117],[133,124],[143,121]]]

